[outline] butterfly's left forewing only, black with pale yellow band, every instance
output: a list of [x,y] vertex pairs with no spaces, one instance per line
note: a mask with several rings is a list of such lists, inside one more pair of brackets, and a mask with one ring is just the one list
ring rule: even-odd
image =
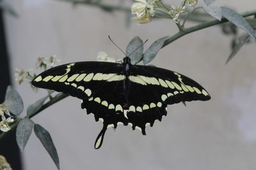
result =
[[[36,76],[35,87],[64,92],[79,99],[88,99],[116,76],[120,64],[113,62],[74,62],[52,67]],[[115,81],[113,81],[115,83]]]

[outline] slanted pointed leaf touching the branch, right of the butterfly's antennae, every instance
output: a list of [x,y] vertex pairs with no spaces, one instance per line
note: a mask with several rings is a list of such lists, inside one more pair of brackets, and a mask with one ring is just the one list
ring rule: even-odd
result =
[[152,61],[159,50],[163,47],[165,40],[169,36],[164,36],[163,38],[157,39],[152,45],[149,46],[149,48],[145,51],[143,55],[143,64],[148,64],[148,62]]

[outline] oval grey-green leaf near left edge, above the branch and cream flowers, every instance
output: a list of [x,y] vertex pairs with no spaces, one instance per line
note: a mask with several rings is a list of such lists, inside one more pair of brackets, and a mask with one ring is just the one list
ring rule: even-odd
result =
[[22,98],[10,85],[7,87],[4,103],[6,108],[8,108],[8,110],[16,116],[19,115],[24,109]]

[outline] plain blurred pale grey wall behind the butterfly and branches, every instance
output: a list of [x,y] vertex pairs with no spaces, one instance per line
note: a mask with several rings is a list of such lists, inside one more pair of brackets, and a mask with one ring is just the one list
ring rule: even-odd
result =
[[[127,7],[132,3],[104,2]],[[122,59],[124,55],[109,41],[108,35],[122,49],[134,36],[140,36],[148,39],[147,49],[156,39],[178,32],[172,20],[136,24],[124,11],[109,12],[97,6],[58,0],[10,0],[9,3],[19,15],[4,13],[3,16],[10,80],[24,99],[25,108],[47,92],[35,93],[28,83],[18,85],[15,68],[31,68],[40,73],[35,70],[36,59],[51,55],[61,59],[61,64],[97,60],[100,51]],[[255,0],[226,0],[215,4],[238,12],[255,9]],[[214,26],[177,39],[157,54],[150,64],[198,81],[212,99],[187,103],[186,107],[168,106],[167,117],[162,122],[156,121],[154,127],[147,127],[147,136],[120,125],[116,131],[108,129],[102,147],[95,150],[93,145],[102,123],[95,122],[93,115],[86,115],[80,100],[74,97],[47,108],[33,121],[51,133],[62,170],[256,169],[255,43],[245,45],[225,65],[231,41],[232,36],[223,34],[220,26]],[[35,134],[21,153],[21,160],[26,170],[56,169]]]

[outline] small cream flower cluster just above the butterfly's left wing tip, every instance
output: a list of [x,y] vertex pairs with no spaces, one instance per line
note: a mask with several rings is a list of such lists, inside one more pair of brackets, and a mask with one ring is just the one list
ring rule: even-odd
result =
[[44,68],[47,69],[47,67],[54,67],[56,64],[60,62],[59,59],[57,59],[56,55],[52,55],[51,57],[38,57],[36,62],[36,68]]

